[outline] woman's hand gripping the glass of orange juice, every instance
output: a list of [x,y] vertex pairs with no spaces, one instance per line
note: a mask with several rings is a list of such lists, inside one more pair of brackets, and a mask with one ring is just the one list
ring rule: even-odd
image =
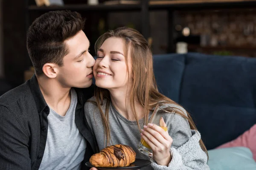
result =
[[[163,118],[161,119],[163,121]],[[144,130],[142,129],[141,136],[151,147],[154,160],[157,164],[168,166],[172,160],[170,155],[172,138],[169,136],[169,133],[163,130],[160,126],[149,123],[148,126],[144,126]]]

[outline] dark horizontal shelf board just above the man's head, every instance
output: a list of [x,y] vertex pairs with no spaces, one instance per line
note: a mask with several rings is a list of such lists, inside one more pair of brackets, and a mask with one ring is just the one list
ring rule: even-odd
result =
[[140,11],[140,4],[118,4],[118,5],[87,5],[87,4],[76,4],[76,5],[64,5],[64,6],[29,6],[29,11],[56,11],[56,10],[71,10],[71,11]]

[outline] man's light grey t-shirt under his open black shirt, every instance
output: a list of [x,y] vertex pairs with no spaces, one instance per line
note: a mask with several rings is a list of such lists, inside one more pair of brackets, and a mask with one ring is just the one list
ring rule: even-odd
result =
[[65,116],[50,108],[44,156],[39,170],[80,170],[86,142],[75,123],[77,95],[71,89],[71,103]]

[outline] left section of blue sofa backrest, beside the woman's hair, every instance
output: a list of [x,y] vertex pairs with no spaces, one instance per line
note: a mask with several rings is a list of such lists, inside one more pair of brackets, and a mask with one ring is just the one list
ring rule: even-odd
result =
[[185,55],[154,55],[154,75],[160,93],[179,102],[180,83],[185,67]]

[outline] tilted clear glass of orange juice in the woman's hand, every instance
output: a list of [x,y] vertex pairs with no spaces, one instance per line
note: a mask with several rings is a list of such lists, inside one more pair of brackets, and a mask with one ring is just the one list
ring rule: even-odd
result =
[[[171,115],[166,115],[171,114]],[[152,114],[149,114],[149,121],[148,123],[152,123],[155,125],[158,125],[163,128],[163,130],[167,131],[166,124],[161,121],[161,117],[168,117],[168,119],[172,119],[172,117],[175,115],[175,110],[171,108],[170,106],[164,104],[164,103],[157,103],[154,111]],[[168,120],[170,121],[170,120]],[[140,139],[140,144],[138,146],[138,150],[147,155],[147,156],[153,156],[151,147],[144,141],[144,139]]]

